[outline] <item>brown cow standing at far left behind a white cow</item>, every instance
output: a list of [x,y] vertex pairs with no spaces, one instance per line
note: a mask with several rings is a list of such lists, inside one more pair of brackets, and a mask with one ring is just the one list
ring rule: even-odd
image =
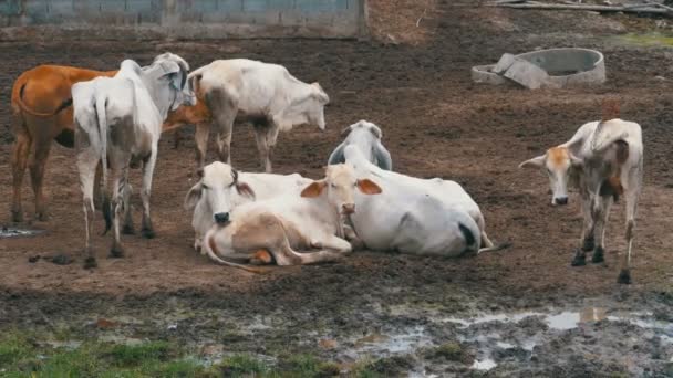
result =
[[[74,126],[72,95],[74,83],[97,76],[113,76],[116,71],[93,71],[59,65],[39,65],[22,73],[12,87],[12,128],[15,143],[12,151],[12,220],[23,220],[21,185],[25,166],[30,167],[35,195],[35,219],[46,219],[43,179],[51,141],[72,148]],[[30,157],[30,159],[29,159]]]

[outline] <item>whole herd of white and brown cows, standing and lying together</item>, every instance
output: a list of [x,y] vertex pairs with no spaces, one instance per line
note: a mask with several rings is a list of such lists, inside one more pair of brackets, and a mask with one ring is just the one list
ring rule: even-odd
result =
[[[12,90],[13,221],[23,219],[27,166],[35,218],[45,218],[44,165],[55,139],[76,149],[85,266],[95,266],[90,233],[96,207],[103,211],[106,231],[113,230],[111,255],[122,256],[120,234],[134,233],[128,169],[143,169],[142,234],[154,238],[149,195],[159,136],[195,125],[199,180],[187,192],[185,208],[194,213],[194,248],[217,263],[256,271],[252,265],[260,263],[335,261],[360,248],[458,256],[508,245],[494,245],[488,239],[479,207],[458,183],[394,172],[381,128],[366,120],[344,129],[324,178],[271,174],[278,133],[301,124],[324,129],[329,101],[318,83],[303,83],[280,65],[244,59],[215,61],[191,73],[187,62],[172,53],[156,56],[147,66],[125,60],[118,71],[108,72],[38,66],[20,75]],[[235,122],[253,125],[265,174],[231,167]],[[220,161],[206,165],[211,128]],[[628,250],[618,282],[630,283],[642,155],[640,126],[603,116],[520,165],[546,172],[553,206],[568,203],[569,186],[579,189],[584,224],[573,266],[584,265],[589,251],[592,262],[603,261],[610,207],[623,195]]]

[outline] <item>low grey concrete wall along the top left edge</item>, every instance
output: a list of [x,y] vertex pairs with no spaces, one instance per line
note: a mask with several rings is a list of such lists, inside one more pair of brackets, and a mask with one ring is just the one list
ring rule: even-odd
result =
[[356,38],[366,0],[0,0],[0,39]]

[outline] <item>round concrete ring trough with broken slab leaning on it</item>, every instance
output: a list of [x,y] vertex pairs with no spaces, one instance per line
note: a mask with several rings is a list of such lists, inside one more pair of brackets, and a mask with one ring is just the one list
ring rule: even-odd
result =
[[605,62],[603,54],[596,50],[539,50],[505,54],[498,64],[474,66],[472,78],[494,85],[514,81],[529,88],[596,85],[605,82]]

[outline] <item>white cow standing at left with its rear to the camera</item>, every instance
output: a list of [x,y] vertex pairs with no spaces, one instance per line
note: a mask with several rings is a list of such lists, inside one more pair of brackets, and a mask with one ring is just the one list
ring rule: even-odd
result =
[[[162,124],[168,109],[194,105],[196,97],[187,84],[189,65],[182,57],[165,53],[146,67],[132,60],[122,62],[114,77],[96,77],[72,86],[77,169],[84,197],[86,228],[85,265],[95,266],[90,228],[93,221],[93,185],[99,161],[103,166],[103,187],[107,165],[112,170],[112,208],[103,190],[106,231],[114,223],[112,256],[122,256],[120,218],[128,209],[128,167],[143,162],[143,235],[154,238],[149,218],[149,192],[157,157]],[[108,145],[110,140],[110,145]],[[106,188],[105,188],[106,189]],[[113,214],[111,214],[113,211]]]

